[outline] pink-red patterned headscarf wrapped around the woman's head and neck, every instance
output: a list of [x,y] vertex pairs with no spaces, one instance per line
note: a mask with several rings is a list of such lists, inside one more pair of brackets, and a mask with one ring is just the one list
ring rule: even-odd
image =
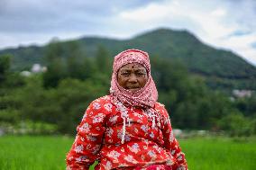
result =
[[[146,85],[136,92],[124,89],[117,82],[118,70],[130,63],[141,64],[146,68],[149,77]],[[154,107],[158,99],[158,91],[151,77],[151,64],[147,52],[139,49],[127,49],[114,57],[110,94],[113,101],[120,101],[124,105],[144,108]]]

